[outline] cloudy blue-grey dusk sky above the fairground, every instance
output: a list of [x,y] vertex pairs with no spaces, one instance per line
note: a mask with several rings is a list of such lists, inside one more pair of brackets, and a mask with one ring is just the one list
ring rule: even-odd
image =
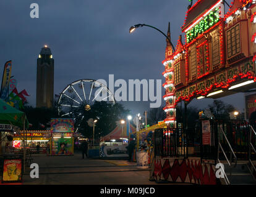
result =
[[[39,5],[39,18],[30,18],[30,4]],[[230,1],[228,1],[230,2]],[[49,46],[54,57],[54,94],[78,79],[161,79],[166,41],[158,31],[143,27],[129,34],[137,23],[156,26],[176,46],[188,0],[1,0],[0,73],[13,61],[12,75],[18,90],[26,89],[35,106],[36,58]],[[162,94],[164,89],[162,88]],[[222,100],[239,110],[244,95]],[[193,100],[189,106],[207,107],[212,99]],[[164,100],[162,100],[164,104]],[[125,102],[132,113],[148,110],[148,102]]]

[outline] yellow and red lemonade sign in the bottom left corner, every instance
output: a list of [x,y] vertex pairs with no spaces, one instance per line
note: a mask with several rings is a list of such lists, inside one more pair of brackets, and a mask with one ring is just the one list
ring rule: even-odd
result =
[[2,182],[22,181],[22,159],[4,159]]

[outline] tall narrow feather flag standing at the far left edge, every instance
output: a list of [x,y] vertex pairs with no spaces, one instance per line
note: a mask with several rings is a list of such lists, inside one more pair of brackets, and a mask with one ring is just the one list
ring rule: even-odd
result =
[[9,82],[11,78],[11,71],[12,61],[8,61],[4,65],[4,73],[2,74],[2,86],[0,93],[0,98],[2,98],[2,100],[6,100],[6,98],[9,96]]

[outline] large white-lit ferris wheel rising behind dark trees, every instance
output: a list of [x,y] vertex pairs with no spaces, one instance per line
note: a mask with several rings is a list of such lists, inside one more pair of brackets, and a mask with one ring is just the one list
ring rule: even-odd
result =
[[67,85],[59,95],[58,113],[62,118],[73,118],[75,132],[92,111],[95,102],[115,104],[114,95],[105,84],[94,79],[80,79]]

